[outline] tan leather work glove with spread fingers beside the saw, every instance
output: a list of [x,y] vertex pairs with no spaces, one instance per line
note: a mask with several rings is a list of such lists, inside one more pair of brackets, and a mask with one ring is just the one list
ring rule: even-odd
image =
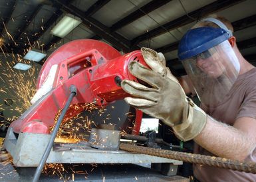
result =
[[141,51],[151,69],[138,62],[130,62],[128,70],[151,87],[124,79],[122,89],[132,95],[125,101],[172,126],[180,140],[192,140],[205,127],[206,114],[186,97],[176,77],[166,68],[162,53],[149,48],[142,48]]

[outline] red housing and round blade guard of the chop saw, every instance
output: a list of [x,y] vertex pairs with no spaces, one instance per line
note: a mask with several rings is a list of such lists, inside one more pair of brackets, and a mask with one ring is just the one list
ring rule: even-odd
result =
[[[72,105],[94,103],[108,105],[127,96],[122,79],[137,81],[128,72],[129,62],[146,66],[140,51],[122,56],[120,52],[98,40],[74,40],[61,46],[45,62],[37,81],[33,105],[20,118],[11,123],[13,132],[49,134],[56,113],[63,109],[70,85],[77,89]],[[74,109],[76,108],[76,109]],[[66,117],[73,117],[82,107],[68,109]],[[142,113],[136,111],[135,134],[140,130]]]

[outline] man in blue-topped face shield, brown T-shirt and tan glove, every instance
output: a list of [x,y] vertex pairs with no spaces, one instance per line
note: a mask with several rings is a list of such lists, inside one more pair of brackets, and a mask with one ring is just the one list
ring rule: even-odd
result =
[[[196,153],[256,161],[256,68],[239,52],[231,24],[218,19],[197,23],[178,50],[201,109],[186,97],[162,54],[147,48],[142,55],[151,69],[138,62],[128,69],[151,87],[124,80],[122,88],[132,95],[127,103],[172,126],[180,140],[193,139]],[[251,173],[207,165],[194,165],[194,175],[199,181],[256,181]]]

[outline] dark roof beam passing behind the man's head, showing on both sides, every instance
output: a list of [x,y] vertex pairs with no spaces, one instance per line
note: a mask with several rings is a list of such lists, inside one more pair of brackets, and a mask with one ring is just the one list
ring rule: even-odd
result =
[[[232,23],[232,25],[234,28],[234,32],[236,32],[238,30],[242,30],[244,28],[249,28],[251,26],[255,26],[256,25],[256,15],[252,15],[251,17],[246,17],[245,19],[235,21]],[[171,44],[167,44],[166,46],[157,48],[156,52],[162,52],[162,53],[171,52],[173,50],[177,50],[178,45],[179,45],[179,42],[173,42]]]

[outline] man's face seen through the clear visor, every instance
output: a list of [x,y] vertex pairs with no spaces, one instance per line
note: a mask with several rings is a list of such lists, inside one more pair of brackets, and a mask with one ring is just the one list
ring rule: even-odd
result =
[[223,60],[221,60],[221,56],[217,53],[207,53],[199,54],[196,57],[196,66],[209,75],[209,77],[217,78],[219,77],[223,71],[225,70],[225,65],[223,64]]

